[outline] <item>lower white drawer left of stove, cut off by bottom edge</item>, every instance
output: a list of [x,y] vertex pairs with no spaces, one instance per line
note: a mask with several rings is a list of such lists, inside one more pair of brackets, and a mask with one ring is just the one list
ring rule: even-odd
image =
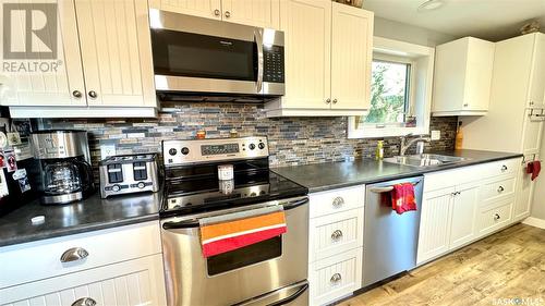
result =
[[[0,290],[0,305],[167,305],[162,256],[152,255]],[[87,305],[87,304],[86,304]],[[90,303],[88,304],[90,305]]]

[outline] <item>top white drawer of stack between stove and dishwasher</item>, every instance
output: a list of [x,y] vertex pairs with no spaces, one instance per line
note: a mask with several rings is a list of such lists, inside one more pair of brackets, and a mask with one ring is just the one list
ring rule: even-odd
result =
[[363,207],[365,185],[313,193],[310,195],[310,198],[311,218],[346,211]]

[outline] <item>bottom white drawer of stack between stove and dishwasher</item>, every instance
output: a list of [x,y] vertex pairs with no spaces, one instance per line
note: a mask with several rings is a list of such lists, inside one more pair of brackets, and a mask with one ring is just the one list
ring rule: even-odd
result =
[[361,247],[311,264],[311,305],[324,305],[359,290],[362,284]]

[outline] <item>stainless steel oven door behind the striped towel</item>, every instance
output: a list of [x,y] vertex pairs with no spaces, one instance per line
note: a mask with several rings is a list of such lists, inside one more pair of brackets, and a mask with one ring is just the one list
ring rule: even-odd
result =
[[[288,296],[302,295],[298,301],[304,299],[306,287],[281,289],[307,278],[307,197],[299,197],[242,208],[282,205],[288,232],[209,258],[203,257],[198,228],[198,218],[208,217],[206,213],[161,220],[169,305],[231,305],[259,296],[268,296],[265,301],[271,305]],[[240,210],[223,210],[221,213]],[[278,297],[276,302],[272,301],[275,296]]]

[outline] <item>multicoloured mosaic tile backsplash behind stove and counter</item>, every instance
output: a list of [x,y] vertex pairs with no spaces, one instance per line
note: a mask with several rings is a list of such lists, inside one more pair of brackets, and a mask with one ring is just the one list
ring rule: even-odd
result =
[[[118,155],[158,152],[162,139],[187,139],[205,130],[207,137],[267,136],[271,167],[343,161],[374,157],[376,139],[347,139],[348,119],[268,119],[263,105],[168,102],[156,119],[43,119],[40,128],[78,128],[89,132],[94,166],[100,159],[100,145],[114,144]],[[440,130],[440,140],[426,144],[426,150],[455,147],[456,117],[432,118],[431,130]],[[385,156],[397,155],[399,139],[385,138]]]

